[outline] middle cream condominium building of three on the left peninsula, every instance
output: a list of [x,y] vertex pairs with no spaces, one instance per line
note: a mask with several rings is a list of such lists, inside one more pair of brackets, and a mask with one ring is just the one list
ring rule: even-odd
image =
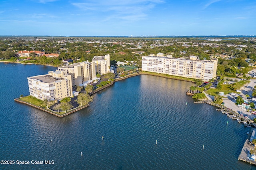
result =
[[80,86],[96,78],[95,63],[81,62],[58,67],[59,71],[69,74],[72,77],[72,86]]

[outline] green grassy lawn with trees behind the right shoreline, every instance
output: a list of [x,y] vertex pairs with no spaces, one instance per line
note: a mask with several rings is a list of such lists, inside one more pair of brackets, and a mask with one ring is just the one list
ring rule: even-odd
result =
[[[247,82],[247,80],[243,81],[241,80],[240,82],[236,82],[236,89],[240,89],[244,84],[249,83],[250,81]],[[210,88],[209,90],[206,91],[207,94],[210,94],[212,96],[216,96],[219,94],[219,92],[224,92],[224,94],[228,93],[237,93],[236,90],[231,90],[228,88],[230,84],[222,84],[222,89],[216,89],[216,88]]]

